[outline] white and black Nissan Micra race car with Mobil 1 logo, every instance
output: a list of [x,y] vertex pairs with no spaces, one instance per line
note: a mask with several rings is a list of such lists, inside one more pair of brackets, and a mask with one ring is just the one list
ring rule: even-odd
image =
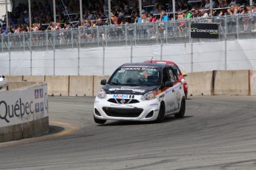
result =
[[165,116],[183,118],[186,99],[183,84],[168,64],[123,64],[94,101],[94,120],[140,120],[160,123]]

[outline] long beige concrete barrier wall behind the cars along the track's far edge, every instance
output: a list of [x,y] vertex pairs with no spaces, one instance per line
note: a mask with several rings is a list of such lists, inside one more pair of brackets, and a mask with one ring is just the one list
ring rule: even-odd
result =
[[[16,79],[15,79],[16,77]],[[13,76],[9,80],[20,80]],[[42,81],[44,76],[24,76],[24,81]],[[109,75],[45,76],[48,95],[96,96],[102,88],[100,81]],[[215,70],[190,72],[186,77],[189,95],[256,95],[256,70]]]

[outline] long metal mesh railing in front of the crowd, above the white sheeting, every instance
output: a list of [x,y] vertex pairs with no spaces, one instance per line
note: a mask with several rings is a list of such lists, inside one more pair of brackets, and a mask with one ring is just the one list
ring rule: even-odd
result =
[[[180,23],[185,22],[184,27]],[[165,24],[124,24],[91,27],[89,29],[53,30],[45,32],[13,33],[0,35],[0,50],[48,50],[77,47],[102,47],[128,44],[160,44],[179,40],[191,42],[191,23],[220,23],[220,38],[243,38],[256,35],[256,13],[217,16],[212,18],[192,18],[168,21]],[[153,30],[153,31],[152,31]],[[153,32],[156,33],[155,38]]]

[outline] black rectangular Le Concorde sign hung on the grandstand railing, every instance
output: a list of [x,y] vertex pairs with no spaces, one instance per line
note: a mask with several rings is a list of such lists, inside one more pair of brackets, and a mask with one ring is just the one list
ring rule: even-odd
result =
[[219,38],[219,24],[191,24],[191,38]]

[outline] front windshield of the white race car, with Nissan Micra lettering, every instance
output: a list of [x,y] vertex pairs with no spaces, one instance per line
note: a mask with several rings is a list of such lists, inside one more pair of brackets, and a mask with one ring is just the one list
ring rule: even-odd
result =
[[108,84],[128,86],[155,86],[159,84],[160,69],[157,67],[122,67],[116,70]]

